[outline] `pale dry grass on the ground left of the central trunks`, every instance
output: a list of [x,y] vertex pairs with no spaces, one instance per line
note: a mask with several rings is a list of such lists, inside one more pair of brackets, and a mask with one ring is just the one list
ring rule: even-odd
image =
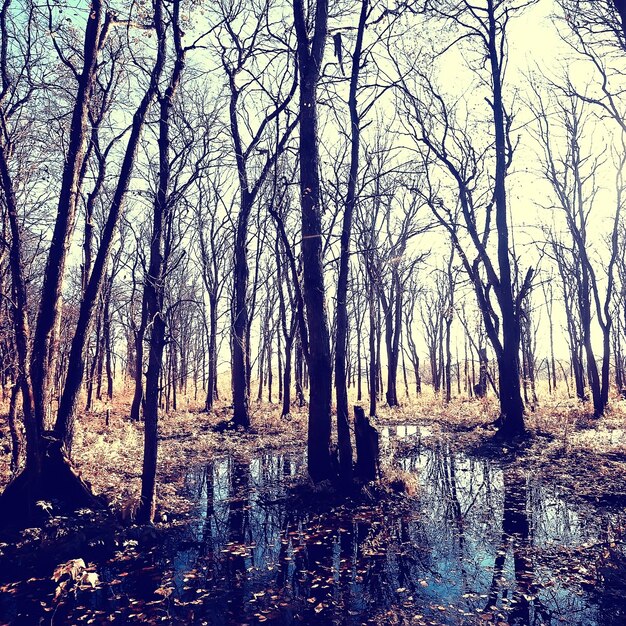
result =
[[[182,485],[189,467],[206,464],[219,456],[253,456],[260,449],[286,449],[306,439],[306,415],[294,412],[280,417],[278,405],[253,404],[253,429],[248,432],[219,432],[216,428],[231,417],[225,402],[206,414],[193,401],[179,403],[183,410],[164,412],[159,422],[158,500],[168,511],[184,512]],[[0,408],[6,415],[8,407]],[[106,413],[110,410],[109,426]],[[141,488],[143,425],[130,422],[130,394],[115,403],[97,403],[94,411],[76,420],[72,458],[82,477],[96,493],[104,493],[120,510],[136,501]],[[294,443],[295,442],[295,443]],[[10,480],[10,445],[6,420],[0,422],[0,489]]]

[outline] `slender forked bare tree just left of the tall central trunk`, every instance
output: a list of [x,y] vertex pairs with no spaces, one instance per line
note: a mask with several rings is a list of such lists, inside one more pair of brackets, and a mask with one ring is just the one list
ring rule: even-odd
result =
[[[289,48],[273,32],[279,25],[272,21],[272,8],[270,2],[249,8],[225,3],[220,7],[223,35],[218,36],[228,79],[229,129],[239,180],[233,271],[233,421],[246,428],[250,425],[248,225],[257,196],[297,124],[295,116],[289,114],[297,80],[290,71]],[[229,41],[228,46],[222,43],[222,36]],[[268,46],[277,43],[280,49],[268,54]],[[271,76],[274,84],[266,84],[265,76]],[[249,98],[252,93],[257,96],[254,107]],[[274,126],[279,124],[280,136],[275,145],[270,145]]]

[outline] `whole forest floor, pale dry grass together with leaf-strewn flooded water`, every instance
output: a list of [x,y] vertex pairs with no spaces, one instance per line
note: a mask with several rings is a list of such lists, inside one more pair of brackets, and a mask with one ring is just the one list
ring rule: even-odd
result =
[[[492,399],[457,399],[445,406],[440,398],[427,393],[399,408],[381,405],[376,424],[382,434],[384,480],[403,485],[410,495],[398,496],[400,500],[391,504],[378,499],[378,494],[373,494],[369,504],[352,501],[341,505],[335,501],[327,503],[321,512],[311,500],[305,504],[308,512],[299,513],[286,504],[285,494],[306,483],[306,407],[284,419],[279,404],[252,403],[253,427],[242,432],[223,428],[230,418],[225,403],[218,403],[211,414],[193,402],[185,401],[185,405],[160,421],[156,531],[164,534],[157,540],[159,547],[150,547],[149,541],[144,546],[146,536],[131,533],[119,542],[123,548],[118,548],[114,559],[106,563],[77,565],[75,559],[66,561],[66,554],[55,561],[53,571],[21,580],[0,580],[0,625],[30,625],[37,623],[32,621],[35,617],[50,614],[53,618],[58,615],[51,623],[60,624],[153,620],[205,625],[265,621],[281,625],[522,624],[525,618],[516,621],[513,617],[526,596],[532,598],[532,611],[540,615],[537,623],[551,623],[547,613],[542,613],[546,606],[555,616],[554,623],[612,625],[622,623],[619,620],[626,615],[624,602],[615,600],[626,593],[623,582],[619,582],[626,578],[626,569],[621,570],[626,568],[626,551],[622,550],[626,528],[626,401],[613,399],[611,411],[600,420],[586,416],[573,400],[560,397],[544,402],[527,416],[531,436],[514,448],[493,438],[491,422],[497,406]],[[128,412],[129,405],[121,398],[111,407],[103,404],[82,415],[72,450],[83,478],[96,493],[106,495],[120,519],[126,518],[126,528],[139,497],[143,450],[142,426],[129,422]],[[0,422],[0,452],[4,452],[0,453],[0,488],[10,478],[8,441],[6,423]],[[248,476],[243,487],[238,474]],[[503,484],[485,491],[483,486],[490,476],[487,485],[493,481]],[[226,486],[220,482],[223,480]],[[490,495],[491,491],[496,495]],[[523,497],[515,504],[520,493]],[[502,513],[494,516],[502,506],[494,502],[502,502],[502,498],[504,521]],[[521,596],[512,591],[511,600],[510,594],[502,591],[502,597],[492,601],[497,555],[508,550],[500,543],[499,533],[501,529],[505,534],[513,532],[510,526],[519,519],[507,521],[507,511],[525,509],[527,501],[528,517],[526,513],[522,517],[526,527],[530,520],[531,527],[536,527],[533,536],[551,539],[547,548],[542,547],[532,557],[532,585],[518,581],[517,588],[526,589]],[[441,502],[447,504],[439,510]],[[214,518],[211,523],[209,515]],[[490,517],[493,520],[486,522]],[[381,531],[380,521],[373,520],[385,520],[385,530]],[[196,529],[191,531],[191,540],[189,528]],[[203,529],[202,549],[195,538],[198,528]],[[355,543],[344,545],[346,535],[342,533],[350,528]],[[435,547],[446,545],[448,531],[459,540],[458,549],[466,546],[462,550],[467,552],[461,565],[451,569],[450,557],[437,557],[441,548]],[[276,532],[279,534],[272,534]],[[443,532],[444,538],[430,539],[435,543],[427,557],[424,544],[431,533],[438,532]],[[404,539],[397,543],[399,536]],[[524,541],[521,543],[526,545]],[[541,543],[537,538],[535,541]],[[547,540],[544,537],[542,541]],[[164,547],[166,544],[169,548]],[[282,550],[287,544],[288,553]],[[326,545],[330,552],[318,554]],[[339,561],[338,574],[332,545],[341,546],[342,554],[346,552]],[[608,591],[600,595],[594,591],[596,595],[587,597],[589,589],[601,586],[598,581],[605,581],[602,584],[607,586],[602,568],[616,545],[620,550],[617,565],[611,565],[611,575],[618,580],[617,587],[611,583]],[[24,541],[24,550],[28,546],[28,540]],[[273,552],[275,546],[280,552]],[[410,556],[416,550],[424,553],[419,562]],[[298,556],[303,553],[306,563],[298,565]],[[408,564],[402,564],[403,554],[409,555]],[[515,559],[519,556],[515,549],[513,555]],[[386,566],[380,569],[383,557]],[[485,561],[492,558],[495,565],[485,567]],[[325,565],[326,561],[333,565]],[[344,584],[341,573],[344,562],[351,567],[349,584]],[[472,567],[476,578],[468,583],[465,578]],[[207,570],[213,573],[209,576]],[[329,575],[331,570],[335,573]],[[200,576],[199,571],[204,574]],[[268,572],[273,571],[278,572],[278,578],[268,582]],[[305,571],[310,575],[308,582],[296,581],[298,572]],[[146,572],[153,579],[149,590],[145,588]],[[290,583],[285,578],[288,573],[294,577]],[[513,576],[511,571],[509,575]],[[505,578],[506,572],[500,572],[497,580]],[[326,583],[322,584],[323,580]],[[112,591],[120,581],[126,581],[122,595]],[[197,589],[192,589],[194,581]],[[395,589],[391,595],[384,591],[389,585]],[[334,595],[324,595],[323,590],[333,586]],[[460,587],[465,593],[459,595],[456,590]],[[85,599],[84,594],[90,591],[100,593],[97,600]],[[571,599],[569,608],[564,608],[563,598],[568,603]],[[198,613],[200,599],[202,611]],[[607,603],[617,621],[598,618],[606,613]],[[240,604],[245,610],[233,613],[233,606]],[[531,609],[527,606],[526,610]],[[224,618],[225,614],[229,617]]]

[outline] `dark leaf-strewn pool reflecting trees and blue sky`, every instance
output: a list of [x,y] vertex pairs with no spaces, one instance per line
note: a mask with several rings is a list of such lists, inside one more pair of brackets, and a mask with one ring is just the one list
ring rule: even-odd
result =
[[114,593],[98,592],[91,623],[625,622],[623,512],[574,507],[518,468],[426,448],[417,429],[383,435],[388,452],[415,440],[395,452],[420,482],[402,505],[286,506],[304,471],[297,453],[194,469],[193,523],[139,559]]

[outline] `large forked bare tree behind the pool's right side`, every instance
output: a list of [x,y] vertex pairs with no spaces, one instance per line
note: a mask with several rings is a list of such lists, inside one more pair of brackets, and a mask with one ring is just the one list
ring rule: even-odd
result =
[[[406,129],[421,148],[428,172],[423,197],[459,254],[496,352],[500,374],[500,417],[496,423],[499,433],[507,438],[525,431],[519,363],[520,307],[530,289],[533,272],[526,272],[516,293],[506,191],[515,144],[510,136],[512,116],[504,97],[505,37],[511,17],[527,4],[485,0],[476,6],[469,2],[443,2],[430,7],[438,20],[459,33],[453,45],[469,38],[477,42],[487,61],[484,70],[483,66],[476,68],[479,81],[487,85],[492,114],[491,141],[487,145],[475,145],[467,130],[469,120],[463,119],[461,109],[447,104],[427,73],[414,69],[407,72],[398,67],[401,77],[407,73],[414,77],[402,78],[399,93],[407,115]],[[439,180],[444,182],[440,184]],[[444,186],[455,190],[447,200],[443,197]],[[461,237],[461,223],[469,235],[468,241]],[[494,229],[495,259],[488,245]]]

